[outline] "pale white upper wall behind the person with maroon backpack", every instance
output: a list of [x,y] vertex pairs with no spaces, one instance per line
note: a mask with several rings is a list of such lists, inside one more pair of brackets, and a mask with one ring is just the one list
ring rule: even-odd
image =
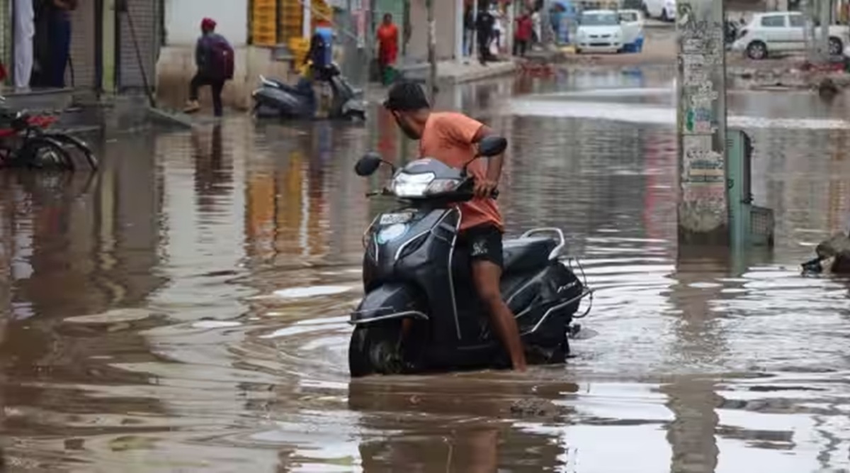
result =
[[166,44],[193,46],[205,17],[234,47],[248,43],[248,0],[165,0]]

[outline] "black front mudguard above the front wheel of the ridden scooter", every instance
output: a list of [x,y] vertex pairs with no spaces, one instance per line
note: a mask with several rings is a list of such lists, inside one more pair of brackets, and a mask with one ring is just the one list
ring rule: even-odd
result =
[[416,289],[407,284],[384,284],[365,294],[348,323],[362,325],[389,319],[428,320],[428,312]]

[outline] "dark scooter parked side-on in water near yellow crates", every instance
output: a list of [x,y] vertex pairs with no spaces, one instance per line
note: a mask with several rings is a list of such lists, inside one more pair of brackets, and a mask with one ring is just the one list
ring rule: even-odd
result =
[[[328,118],[365,120],[363,91],[353,88],[339,73],[336,65],[316,73],[317,81],[331,86],[331,107]],[[293,86],[260,76],[260,88],[254,90],[254,113],[257,117],[312,119],[316,108],[313,87],[307,82]]]

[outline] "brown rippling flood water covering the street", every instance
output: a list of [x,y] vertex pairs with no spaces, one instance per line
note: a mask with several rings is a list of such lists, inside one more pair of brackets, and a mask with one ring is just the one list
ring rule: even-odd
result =
[[510,139],[508,233],[563,228],[597,290],[575,358],[524,374],[348,378],[380,208],[354,161],[415,150],[379,112],[120,135],[93,180],[0,175],[6,470],[850,469],[850,281],[798,271],[847,223],[848,107],[731,92],[776,248],[679,254],[671,77],[440,97]]

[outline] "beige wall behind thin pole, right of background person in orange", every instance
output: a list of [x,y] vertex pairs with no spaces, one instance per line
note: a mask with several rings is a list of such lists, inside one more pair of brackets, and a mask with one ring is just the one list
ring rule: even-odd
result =
[[[456,9],[455,0],[433,0],[438,60],[449,60],[455,55]],[[428,60],[428,12],[425,0],[411,0],[411,26],[411,41],[407,44],[408,60]]]

